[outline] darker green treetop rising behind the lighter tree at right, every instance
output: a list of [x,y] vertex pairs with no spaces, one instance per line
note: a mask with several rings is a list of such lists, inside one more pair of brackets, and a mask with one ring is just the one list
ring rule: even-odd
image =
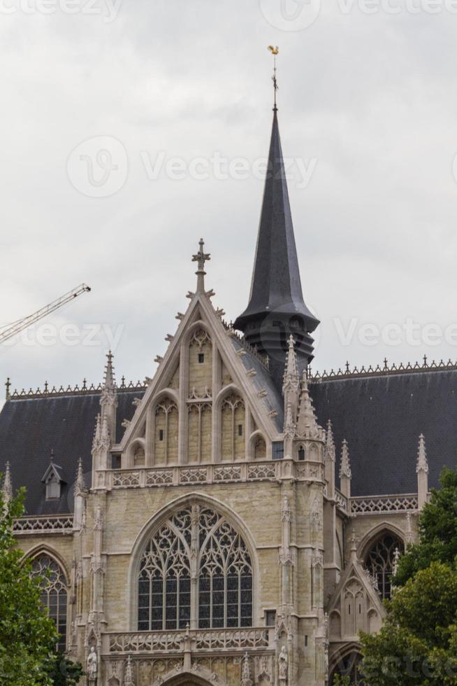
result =
[[432,562],[454,566],[457,556],[457,472],[444,468],[440,489],[433,489],[430,503],[419,516],[419,543],[409,545],[400,558],[395,576],[397,587]]

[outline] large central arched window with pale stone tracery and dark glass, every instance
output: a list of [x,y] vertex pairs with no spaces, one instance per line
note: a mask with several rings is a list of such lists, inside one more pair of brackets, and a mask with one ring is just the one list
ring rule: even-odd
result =
[[[192,582],[194,580],[194,583]],[[138,630],[252,626],[252,563],[219,513],[191,505],[147,543],[138,575]]]

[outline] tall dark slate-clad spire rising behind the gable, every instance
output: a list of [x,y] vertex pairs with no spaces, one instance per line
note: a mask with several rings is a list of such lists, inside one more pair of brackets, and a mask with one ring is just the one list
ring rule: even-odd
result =
[[273,375],[279,385],[289,334],[293,332],[296,338],[303,367],[312,359],[310,332],[318,324],[303,300],[275,110],[249,304],[234,328],[245,332],[249,343],[273,358],[277,367]]

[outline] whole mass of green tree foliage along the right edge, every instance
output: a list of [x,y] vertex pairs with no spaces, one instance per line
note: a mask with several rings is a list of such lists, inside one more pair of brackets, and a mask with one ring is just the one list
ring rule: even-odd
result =
[[457,685],[457,472],[419,517],[419,542],[398,563],[384,626],[361,634],[370,686]]

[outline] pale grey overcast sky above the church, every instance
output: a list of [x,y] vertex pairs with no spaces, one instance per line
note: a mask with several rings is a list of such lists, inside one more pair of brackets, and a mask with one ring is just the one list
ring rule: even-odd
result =
[[457,7],[389,1],[0,0],[0,320],[92,287],[1,379],[98,382],[109,337],[118,379],[152,375],[201,235],[245,308],[269,43],[314,368],[457,358]]

